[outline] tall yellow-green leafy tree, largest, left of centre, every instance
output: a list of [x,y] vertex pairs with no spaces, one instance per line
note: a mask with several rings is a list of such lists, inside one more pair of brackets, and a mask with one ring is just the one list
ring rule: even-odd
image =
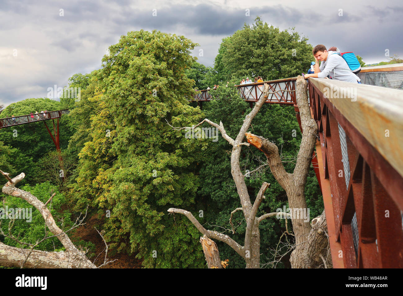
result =
[[187,102],[194,91],[185,70],[194,46],[160,31],[129,32],[110,46],[88,98],[99,111],[80,153],[77,204],[111,210],[106,238],[117,250],[138,252],[145,267],[204,265],[201,252],[187,251],[197,248],[197,230],[166,215],[169,205],[195,203],[207,145],[167,124],[191,126],[201,118]]

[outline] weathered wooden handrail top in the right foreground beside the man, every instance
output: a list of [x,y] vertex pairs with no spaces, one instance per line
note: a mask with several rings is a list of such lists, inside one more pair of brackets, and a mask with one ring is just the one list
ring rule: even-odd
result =
[[[403,176],[403,91],[319,78],[310,82],[330,94],[338,90],[343,95],[349,91],[356,94],[355,99],[327,99]],[[385,137],[386,130],[389,137]]]

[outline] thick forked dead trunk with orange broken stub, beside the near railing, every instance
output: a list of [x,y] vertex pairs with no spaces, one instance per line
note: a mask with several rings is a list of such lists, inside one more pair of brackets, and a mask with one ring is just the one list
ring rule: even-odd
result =
[[[316,222],[314,228],[302,215],[304,211],[307,213],[305,183],[317,139],[318,126],[311,117],[307,98],[307,82],[301,76],[297,78],[296,98],[303,133],[297,163],[292,174],[285,171],[278,148],[274,143],[251,133],[246,133],[246,137],[250,144],[264,152],[274,178],[287,193],[295,235],[295,250],[291,253],[290,258],[291,267],[315,268],[323,263],[326,267],[329,264],[330,256],[328,256],[329,245],[325,214],[323,212],[320,217],[314,219]],[[312,223],[314,224],[314,222]],[[327,259],[323,260],[323,258]]]

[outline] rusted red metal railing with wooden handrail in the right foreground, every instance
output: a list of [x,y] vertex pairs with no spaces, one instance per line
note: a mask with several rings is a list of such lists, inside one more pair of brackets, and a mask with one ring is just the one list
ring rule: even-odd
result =
[[403,91],[310,78],[309,92],[334,267],[402,268]]

